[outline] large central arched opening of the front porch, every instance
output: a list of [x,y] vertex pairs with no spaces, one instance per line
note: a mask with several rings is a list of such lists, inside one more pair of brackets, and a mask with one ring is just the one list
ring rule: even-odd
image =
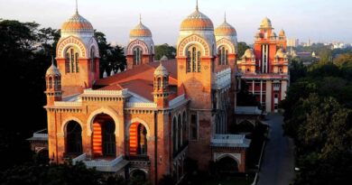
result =
[[116,156],[115,122],[107,114],[99,114],[93,121],[93,154],[94,156]]

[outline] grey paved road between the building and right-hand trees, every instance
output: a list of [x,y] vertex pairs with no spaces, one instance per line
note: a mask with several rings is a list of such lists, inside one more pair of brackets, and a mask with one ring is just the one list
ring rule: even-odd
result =
[[289,185],[294,178],[293,143],[283,136],[283,116],[266,116],[270,127],[270,138],[264,149],[258,185]]

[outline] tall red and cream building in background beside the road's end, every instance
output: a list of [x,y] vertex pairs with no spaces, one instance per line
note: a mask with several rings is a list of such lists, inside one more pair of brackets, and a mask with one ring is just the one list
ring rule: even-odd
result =
[[286,54],[286,36],[273,32],[268,18],[264,18],[255,34],[254,49],[248,49],[237,62],[249,92],[266,112],[277,112],[278,104],[286,96],[290,76]]

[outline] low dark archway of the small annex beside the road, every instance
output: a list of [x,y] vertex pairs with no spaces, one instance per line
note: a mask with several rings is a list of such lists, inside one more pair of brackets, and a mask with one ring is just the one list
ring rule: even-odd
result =
[[225,156],[218,159],[216,162],[216,168],[220,174],[236,173],[238,171],[238,163],[230,156]]

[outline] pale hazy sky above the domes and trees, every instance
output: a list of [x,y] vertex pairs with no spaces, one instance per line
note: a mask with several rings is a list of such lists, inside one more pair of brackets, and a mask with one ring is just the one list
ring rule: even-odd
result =
[[[107,35],[107,41],[126,45],[129,31],[142,22],[155,44],[175,45],[181,21],[195,10],[196,0],[79,0],[79,14]],[[0,18],[36,22],[60,29],[75,12],[75,0],[0,0]],[[239,42],[254,42],[265,16],[275,32],[300,42],[352,43],[351,0],[199,0],[199,11],[217,27],[224,21],[237,31]]]

